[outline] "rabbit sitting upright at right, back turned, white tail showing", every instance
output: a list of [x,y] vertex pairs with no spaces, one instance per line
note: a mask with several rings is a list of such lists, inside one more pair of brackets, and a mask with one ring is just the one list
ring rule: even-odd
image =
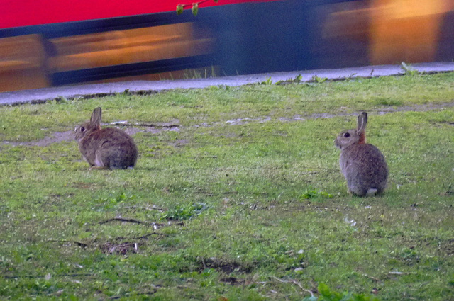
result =
[[358,115],[356,130],[345,130],[334,141],[341,149],[339,164],[348,191],[359,196],[383,193],[388,178],[388,166],[382,152],[366,143],[366,125],[367,113],[362,112]]

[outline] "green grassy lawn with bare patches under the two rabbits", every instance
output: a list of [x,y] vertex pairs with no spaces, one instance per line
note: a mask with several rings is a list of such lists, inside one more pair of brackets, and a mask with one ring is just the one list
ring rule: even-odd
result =
[[[96,106],[129,124],[135,169],[82,161],[70,131]],[[348,195],[333,145],[361,110],[389,165],[381,197]],[[0,116],[0,300],[336,300],[321,283],[454,300],[454,73],[121,93]]]

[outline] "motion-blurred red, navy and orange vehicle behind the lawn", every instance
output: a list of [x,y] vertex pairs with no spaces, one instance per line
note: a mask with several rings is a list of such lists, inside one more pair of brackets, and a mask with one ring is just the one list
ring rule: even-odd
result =
[[0,91],[454,59],[454,0],[5,0]]

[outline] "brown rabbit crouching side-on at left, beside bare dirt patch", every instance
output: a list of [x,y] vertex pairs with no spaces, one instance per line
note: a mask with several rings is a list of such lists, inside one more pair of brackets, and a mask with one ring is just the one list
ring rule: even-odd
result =
[[88,123],[75,129],[79,150],[90,169],[127,169],[135,166],[138,149],[131,136],[117,128],[101,129],[101,108]]

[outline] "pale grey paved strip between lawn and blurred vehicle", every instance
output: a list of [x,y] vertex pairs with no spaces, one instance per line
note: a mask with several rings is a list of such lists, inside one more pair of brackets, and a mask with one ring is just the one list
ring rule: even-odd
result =
[[[437,73],[453,72],[454,62],[434,62],[412,64],[411,68],[419,72]],[[352,77],[393,76],[404,74],[401,65],[380,65],[367,67],[354,67],[344,69],[318,69],[294,72],[277,72],[270,74],[252,74],[240,76],[214,77],[210,79],[184,79],[165,81],[122,81],[106,84],[81,84],[77,86],[59,86],[43,89],[22,90],[0,93],[0,106],[18,105],[22,103],[43,103],[55,98],[76,98],[113,93],[165,91],[170,89],[201,89],[207,86],[241,86],[245,84],[260,83],[262,81],[286,81],[301,75],[301,81],[310,81],[314,76],[327,79],[347,79]]]

